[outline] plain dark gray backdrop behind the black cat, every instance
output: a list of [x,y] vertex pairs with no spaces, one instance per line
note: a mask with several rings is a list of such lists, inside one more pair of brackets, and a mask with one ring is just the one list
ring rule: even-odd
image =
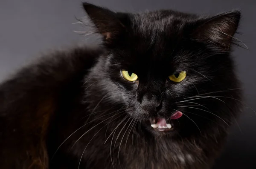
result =
[[[249,50],[234,51],[238,73],[244,84],[247,108],[233,126],[230,139],[215,169],[256,169],[256,99],[254,57],[256,54],[255,0],[88,0],[113,10],[145,11],[170,8],[199,14],[241,9],[239,32]],[[80,0],[0,0],[0,81],[39,53],[92,42],[74,33],[81,30],[75,16],[84,12]]]

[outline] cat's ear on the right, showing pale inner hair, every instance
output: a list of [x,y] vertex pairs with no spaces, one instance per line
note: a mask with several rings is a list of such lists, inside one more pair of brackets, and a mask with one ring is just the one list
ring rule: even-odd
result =
[[240,11],[230,11],[200,21],[201,23],[195,29],[193,37],[228,51],[239,26],[240,16]]

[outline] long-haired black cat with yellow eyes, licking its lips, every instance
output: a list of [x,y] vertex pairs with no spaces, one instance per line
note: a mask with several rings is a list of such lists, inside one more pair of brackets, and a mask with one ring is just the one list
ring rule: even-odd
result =
[[241,112],[240,12],[83,7],[102,45],[49,54],[0,85],[0,168],[211,168]]

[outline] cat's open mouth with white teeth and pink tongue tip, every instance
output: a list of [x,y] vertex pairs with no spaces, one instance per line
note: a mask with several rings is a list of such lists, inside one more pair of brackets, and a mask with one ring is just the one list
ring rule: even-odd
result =
[[[182,116],[182,112],[175,112],[169,119],[176,120]],[[171,121],[169,119],[154,117],[150,119],[151,127],[160,131],[171,131],[173,129]]]

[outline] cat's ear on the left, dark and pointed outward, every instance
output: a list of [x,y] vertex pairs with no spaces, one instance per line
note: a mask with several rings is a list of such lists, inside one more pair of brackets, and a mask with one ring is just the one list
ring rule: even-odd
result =
[[98,33],[104,36],[106,43],[110,43],[124,31],[125,26],[119,20],[117,13],[90,3],[83,3],[83,7],[98,29]]

